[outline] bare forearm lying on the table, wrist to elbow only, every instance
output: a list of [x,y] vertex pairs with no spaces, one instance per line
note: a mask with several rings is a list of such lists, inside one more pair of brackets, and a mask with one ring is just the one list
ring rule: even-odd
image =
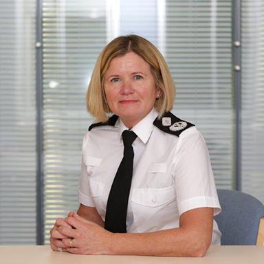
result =
[[113,234],[113,254],[145,256],[204,256],[208,241],[200,234],[174,228],[144,234]]

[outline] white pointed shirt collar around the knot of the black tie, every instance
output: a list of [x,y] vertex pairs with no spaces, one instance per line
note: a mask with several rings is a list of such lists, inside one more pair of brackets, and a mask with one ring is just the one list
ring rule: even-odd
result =
[[[151,112],[148,113],[148,115],[146,115],[140,122],[138,122],[131,129],[137,135],[137,137],[139,137],[140,140],[144,142],[144,144],[146,144],[148,138],[151,135],[151,132],[154,129],[153,122],[155,118],[157,118],[158,114],[159,114],[158,111],[153,108]],[[122,141],[122,133],[124,130],[128,130],[128,128],[124,125],[124,123],[120,118],[118,118],[117,122],[115,123],[115,127],[118,126],[119,126],[119,138],[120,141]]]

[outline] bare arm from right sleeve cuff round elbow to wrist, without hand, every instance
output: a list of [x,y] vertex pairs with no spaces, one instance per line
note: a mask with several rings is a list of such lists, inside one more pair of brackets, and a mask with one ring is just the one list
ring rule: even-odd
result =
[[212,241],[213,208],[181,214],[179,228],[144,234],[113,234],[112,254],[204,256]]

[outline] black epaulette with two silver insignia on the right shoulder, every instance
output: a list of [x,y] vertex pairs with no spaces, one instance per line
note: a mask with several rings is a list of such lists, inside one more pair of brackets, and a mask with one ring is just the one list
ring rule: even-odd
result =
[[177,135],[178,137],[182,131],[188,129],[190,126],[195,126],[195,124],[177,118],[177,116],[170,112],[164,113],[160,120],[156,118],[153,124],[165,133]]

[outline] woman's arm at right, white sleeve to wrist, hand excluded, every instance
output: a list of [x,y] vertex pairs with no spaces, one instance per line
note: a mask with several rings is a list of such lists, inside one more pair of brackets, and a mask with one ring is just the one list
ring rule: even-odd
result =
[[214,208],[220,208],[208,150],[199,133],[190,133],[180,140],[173,170],[179,228],[147,234],[113,234],[115,254],[204,256],[210,247]]

